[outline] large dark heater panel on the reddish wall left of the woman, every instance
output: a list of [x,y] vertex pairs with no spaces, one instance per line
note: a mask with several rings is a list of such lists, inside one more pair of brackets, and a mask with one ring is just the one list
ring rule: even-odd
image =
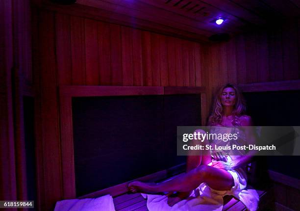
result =
[[200,95],[73,98],[76,195],[185,162],[176,126],[200,125]]

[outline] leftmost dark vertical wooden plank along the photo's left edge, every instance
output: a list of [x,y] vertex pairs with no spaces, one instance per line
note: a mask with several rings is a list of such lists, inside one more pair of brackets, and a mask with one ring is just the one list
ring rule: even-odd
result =
[[[0,198],[17,200],[11,68],[13,67],[12,1],[0,1]],[[13,209],[16,211],[17,209]]]

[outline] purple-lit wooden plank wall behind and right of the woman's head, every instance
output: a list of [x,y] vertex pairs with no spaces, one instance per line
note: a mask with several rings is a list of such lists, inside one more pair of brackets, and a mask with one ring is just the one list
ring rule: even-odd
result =
[[277,26],[212,44],[206,58],[208,99],[226,82],[250,84],[300,79],[300,22],[285,20]]

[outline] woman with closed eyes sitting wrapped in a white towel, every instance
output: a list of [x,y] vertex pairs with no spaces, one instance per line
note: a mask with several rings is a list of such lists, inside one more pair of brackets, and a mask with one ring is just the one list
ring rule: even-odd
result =
[[[226,127],[251,126],[251,118],[245,115],[245,110],[246,106],[241,92],[234,84],[228,83],[220,89],[216,97],[208,125],[213,128],[220,127],[221,130]],[[197,132],[204,131],[197,130]],[[244,137],[244,140],[247,137],[247,143],[253,143],[255,140],[250,128],[243,128],[239,134]],[[128,189],[131,192],[169,192],[167,195],[170,206],[190,196],[201,183],[229,195],[229,191],[235,186],[235,189],[246,187],[246,173],[243,167],[250,163],[251,158],[252,156],[248,155],[227,156],[215,151],[210,151],[209,154],[203,153],[200,156],[188,156],[186,174],[160,184],[134,181],[128,184]],[[174,192],[176,192],[175,195]]]

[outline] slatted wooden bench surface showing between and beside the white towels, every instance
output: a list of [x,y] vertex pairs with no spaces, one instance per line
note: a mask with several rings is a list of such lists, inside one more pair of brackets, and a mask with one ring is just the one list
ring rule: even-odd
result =
[[[249,187],[251,188],[251,187]],[[257,190],[259,197],[263,196],[266,192]],[[147,200],[142,197],[140,193],[123,194],[114,198],[114,205],[116,211],[148,211]],[[245,205],[233,198],[232,196],[224,197],[223,211],[244,211]]]

